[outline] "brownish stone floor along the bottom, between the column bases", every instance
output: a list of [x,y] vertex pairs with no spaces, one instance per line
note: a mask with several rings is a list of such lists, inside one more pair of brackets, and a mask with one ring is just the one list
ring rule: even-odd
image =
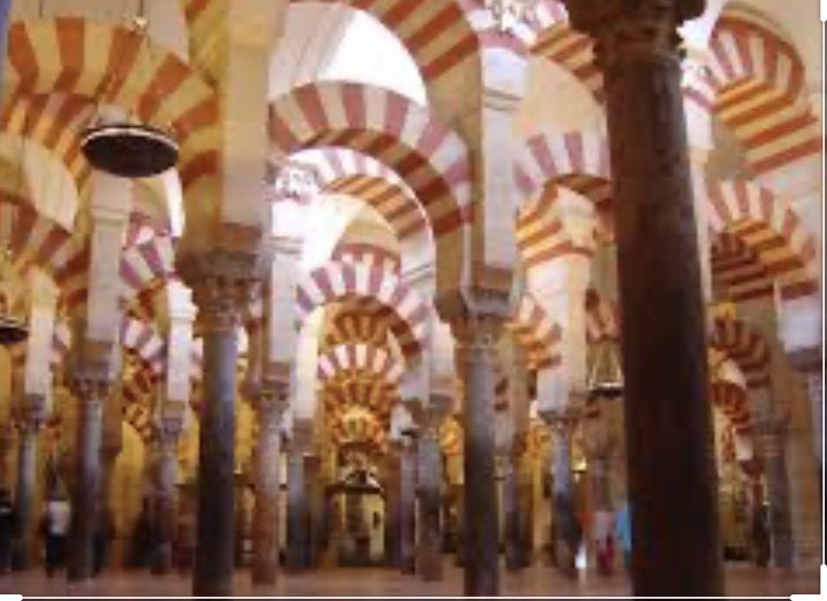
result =
[[[628,596],[622,575],[600,578],[581,573],[579,581],[558,576],[551,568],[535,566],[519,574],[503,572],[503,596],[595,597]],[[746,566],[729,566],[727,593],[744,597],[789,597],[817,593],[818,572],[781,573]],[[165,597],[188,596],[188,575],[165,577],[146,572],[106,574],[92,582],[70,585],[61,574],[47,578],[41,571],[0,576],[0,593],[24,597]],[[448,567],[442,582],[426,584],[413,576],[388,569],[323,569],[302,575],[283,575],[276,587],[253,588],[246,572],[235,578],[235,594],[279,597],[434,597],[461,596],[462,572]]]

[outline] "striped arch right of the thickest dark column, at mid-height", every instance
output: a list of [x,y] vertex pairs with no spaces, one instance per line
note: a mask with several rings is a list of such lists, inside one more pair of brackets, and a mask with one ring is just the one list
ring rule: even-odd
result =
[[744,180],[707,182],[706,194],[713,263],[734,299],[771,294],[773,280],[786,299],[817,294],[816,241],[783,198]]

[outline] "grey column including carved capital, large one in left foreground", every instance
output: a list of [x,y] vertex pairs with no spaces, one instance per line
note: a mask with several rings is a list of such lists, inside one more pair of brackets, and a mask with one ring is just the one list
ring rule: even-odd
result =
[[179,260],[193,286],[204,339],[199,404],[197,530],[193,593],[231,597],[235,541],[235,365],[240,309],[255,287],[258,257],[216,250]]

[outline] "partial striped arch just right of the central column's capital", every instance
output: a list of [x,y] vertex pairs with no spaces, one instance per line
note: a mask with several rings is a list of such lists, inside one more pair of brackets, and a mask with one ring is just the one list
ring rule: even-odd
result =
[[560,364],[560,327],[531,293],[523,293],[511,327],[526,351],[530,368],[546,369]]

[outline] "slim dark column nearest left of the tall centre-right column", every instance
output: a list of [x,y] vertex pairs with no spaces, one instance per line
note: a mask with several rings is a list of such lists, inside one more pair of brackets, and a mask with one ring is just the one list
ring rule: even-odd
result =
[[442,453],[439,447],[439,421],[428,417],[421,429],[416,488],[419,531],[416,571],[423,580],[442,579]]

